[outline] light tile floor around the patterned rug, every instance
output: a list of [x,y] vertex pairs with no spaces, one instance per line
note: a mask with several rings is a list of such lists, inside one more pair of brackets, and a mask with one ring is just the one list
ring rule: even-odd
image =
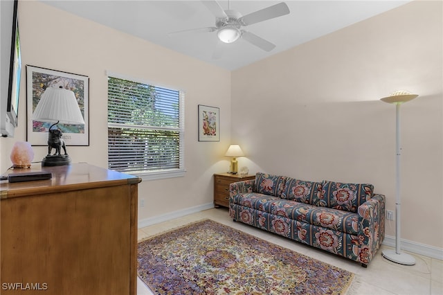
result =
[[[412,254],[416,259],[416,264],[413,266],[397,265],[381,257],[381,250],[377,252],[377,256],[370,262],[367,268],[361,267],[357,262],[352,262],[345,258],[340,258],[334,254],[320,251],[314,247],[292,242],[286,238],[278,235],[256,229],[253,226],[248,226],[242,222],[233,222],[228,215],[226,208],[213,208],[199,213],[194,213],[184,217],[180,217],[168,222],[162,222],[147,226],[138,230],[138,240],[147,238],[150,235],[155,235],[163,231],[169,231],[176,227],[208,218],[215,220],[221,224],[226,224],[240,231],[255,235],[257,238],[262,238],[269,242],[279,244],[298,253],[306,256],[316,258],[330,265],[341,267],[347,271],[352,271],[356,274],[354,283],[349,295],[355,294],[440,294],[443,295],[443,261],[426,256],[419,256]],[[381,249],[389,247],[382,246]],[[137,294],[147,295],[152,294],[145,286],[140,278],[137,278]]]

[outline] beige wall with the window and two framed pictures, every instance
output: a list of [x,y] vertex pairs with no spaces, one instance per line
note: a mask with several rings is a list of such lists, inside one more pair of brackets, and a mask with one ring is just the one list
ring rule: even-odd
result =
[[[89,76],[90,145],[68,147],[73,162],[107,167],[106,71],[186,91],[186,176],[143,181],[140,220],[213,202],[214,172],[228,170],[223,154],[230,144],[230,72],[142,39],[100,26],[37,1],[19,1],[23,64]],[[22,81],[26,73],[23,72]],[[19,128],[1,138],[1,171],[10,166],[15,141],[26,140],[26,83],[21,84]],[[220,108],[221,140],[197,141],[197,105]],[[35,161],[46,147],[34,147]]]

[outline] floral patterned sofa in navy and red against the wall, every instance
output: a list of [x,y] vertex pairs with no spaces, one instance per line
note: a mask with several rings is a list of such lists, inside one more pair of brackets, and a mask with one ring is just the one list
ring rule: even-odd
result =
[[384,238],[385,196],[371,184],[304,181],[258,172],[230,184],[229,214],[259,229],[361,262]]

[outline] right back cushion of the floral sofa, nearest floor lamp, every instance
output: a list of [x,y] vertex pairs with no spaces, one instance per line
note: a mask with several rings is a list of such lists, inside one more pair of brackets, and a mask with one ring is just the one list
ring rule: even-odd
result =
[[344,184],[323,181],[320,206],[356,213],[361,204],[372,197],[372,184]]

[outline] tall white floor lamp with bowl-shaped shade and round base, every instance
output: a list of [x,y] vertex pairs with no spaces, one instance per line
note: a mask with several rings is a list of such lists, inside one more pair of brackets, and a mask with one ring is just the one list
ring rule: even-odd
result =
[[417,94],[410,94],[406,91],[396,91],[386,98],[381,98],[383,102],[395,105],[395,149],[396,149],[396,172],[395,172],[395,250],[383,250],[381,255],[400,265],[415,265],[415,258],[408,253],[401,252],[400,231],[401,231],[401,196],[400,196],[400,105],[416,98]]

